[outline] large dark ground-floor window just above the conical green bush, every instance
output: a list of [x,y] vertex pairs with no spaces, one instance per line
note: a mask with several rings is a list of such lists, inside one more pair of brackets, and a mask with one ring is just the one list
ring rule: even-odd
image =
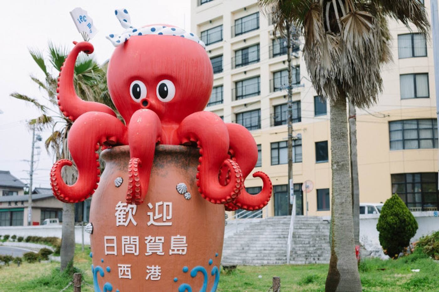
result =
[[438,175],[435,172],[392,174],[392,193],[410,211],[436,211],[439,208]]

